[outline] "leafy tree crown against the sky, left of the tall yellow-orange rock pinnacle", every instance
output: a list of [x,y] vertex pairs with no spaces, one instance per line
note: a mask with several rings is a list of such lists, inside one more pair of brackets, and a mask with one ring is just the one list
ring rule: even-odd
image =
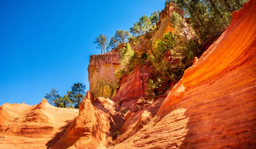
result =
[[130,28],[130,32],[134,37],[141,36],[143,34],[149,34],[156,29],[156,22],[159,20],[159,11],[154,11],[151,16],[143,15],[139,18],[139,21],[133,24]]

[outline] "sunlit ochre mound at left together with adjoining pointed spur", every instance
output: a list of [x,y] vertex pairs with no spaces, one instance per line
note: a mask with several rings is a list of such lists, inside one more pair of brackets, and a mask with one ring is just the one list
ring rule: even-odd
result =
[[0,148],[107,148],[122,126],[121,109],[112,100],[94,99],[91,91],[78,109],[38,105],[0,107]]

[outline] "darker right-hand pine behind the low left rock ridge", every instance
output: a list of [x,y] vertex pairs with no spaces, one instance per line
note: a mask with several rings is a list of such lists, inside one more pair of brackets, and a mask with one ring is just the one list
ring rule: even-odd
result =
[[86,87],[85,87],[85,85],[83,85],[83,83],[75,83],[71,87],[71,91],[67,91],[68,97],[75,104],[75,108],[77,108],[77,109],[79,109],[79,105],[81,104],[81,102],[84,99],[84,96],[86,94],[85,88]]

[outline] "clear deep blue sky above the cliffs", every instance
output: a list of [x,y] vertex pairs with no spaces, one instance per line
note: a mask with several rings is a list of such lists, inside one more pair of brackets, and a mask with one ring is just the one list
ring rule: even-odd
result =
[[89,89],[92,41],[129,30],[165,0],[0,0],[0,105],[39,104],[53,87]]

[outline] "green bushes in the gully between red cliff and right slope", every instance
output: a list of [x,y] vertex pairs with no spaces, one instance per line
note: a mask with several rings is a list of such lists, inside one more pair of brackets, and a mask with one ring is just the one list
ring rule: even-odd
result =
[[[148,57],[148,60],[153,64],[153,76],[157,78],[148,82],[146,94],[149,99],[154,99],[157,95],[163,94],[162,92],[157,92],[159,87],[169,86],[170,83],[176,82],[181,78],[185,70],[183,60],[186,59],[186,49],[187,47],[182,37],[171,32],[164,34],[162,39],[156,42],[155,57],[152,55]],[[172,65],[172,63],[164,60],[165,54],[178,59],[180,63]]]

